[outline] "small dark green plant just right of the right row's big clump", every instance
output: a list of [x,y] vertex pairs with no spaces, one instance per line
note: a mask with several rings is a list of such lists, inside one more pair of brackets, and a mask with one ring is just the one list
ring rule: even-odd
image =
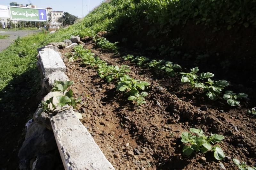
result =
[[233,91],[226,91],[223,95],[223,99],[227,100],[230,106],[240,106],[240,101],[238,99],[246,98],[248,94],[245,93],[233,93]]

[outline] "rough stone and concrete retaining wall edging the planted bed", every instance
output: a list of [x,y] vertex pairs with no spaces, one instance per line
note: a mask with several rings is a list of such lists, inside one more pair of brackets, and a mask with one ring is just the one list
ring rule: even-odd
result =
[[[76,36],[72,36],[71,40],[80,41]],[[41,72],[41,85],[43,94],[48,93],[44,101],[59,95],[58,92],[51,92],[54,80],[69,80],[59,48],[71,48],[75,45],[77,44],[72,44],[70,40],[64,40],[38,48],[37,65]],[[65,169],[114,169],[73,109],[49,115],[38,108],[33,119],[27,123],[26,138],[18,155],[20,169],[63,169],[63,166],[58,165],[60,161],[57,160],[57,148]]]

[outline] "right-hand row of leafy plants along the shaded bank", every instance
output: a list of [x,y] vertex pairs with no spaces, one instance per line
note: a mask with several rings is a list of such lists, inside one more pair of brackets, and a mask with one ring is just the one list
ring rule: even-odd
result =
[[[98,45],[98,42],[101,42],[102,45]],[[99,38],[96,40],[97,47],[106,49],[106,50],[115,50],[117,49],[116,43],[109,42],[106,38]],[[111,47],[111,48],[109,48]],[[115,48],[113,48],[115,47]],[[221,92],[223,89],[227,88],[229,82],[227,80],[217,80],[214,81],[211,78],[214,77],[214,74],[210,72],[198,73],[198,67],[190,69],[190,72],[179,72],[181,66],[178,64],[173,64],[170,61],[165,60],[150,60],[145,56],[136,56],[126,55],[122,57],[124,60],[129,60],[135,62],[138,66],[147,67],[154,70],[156,73],[165,72],[168,76],[176,76],[181,74],[181,82],[189,83],[192,88],[200,88],[204,94],[211,100],[217,100],[220,98]],[[223,99],[227,101],[230,106],[239,106],[240,99],[248,97],[245,93],[234,93],[233,91],[225,91],[223,94]]]

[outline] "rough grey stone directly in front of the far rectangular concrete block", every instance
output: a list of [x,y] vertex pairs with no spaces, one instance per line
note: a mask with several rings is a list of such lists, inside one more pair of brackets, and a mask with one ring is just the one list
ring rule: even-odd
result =
[[60,70],[52,72],[51,74],[46,76],[44,78],[44,81],[42,82],[42,87],[45,88],[45,91],[47,93],[52,90],[54,80],[69,81],[68,76],[64,72],[62,72]]

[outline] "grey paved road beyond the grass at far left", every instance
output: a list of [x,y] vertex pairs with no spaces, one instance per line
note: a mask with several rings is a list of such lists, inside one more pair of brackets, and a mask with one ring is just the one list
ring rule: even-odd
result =
[[28,34],[32,33],[38,33],[41,32],[42,30],[18,30],[18,31],[13,31],[13,30],[8,30],[8,29],[0,29],[0,35],[10,35],[9,37],[6,37],[6,39],[0,39],[0,52],[3,51],[5,48],[7,48],[13,40],[15,40],[18,36],[23,37]]

